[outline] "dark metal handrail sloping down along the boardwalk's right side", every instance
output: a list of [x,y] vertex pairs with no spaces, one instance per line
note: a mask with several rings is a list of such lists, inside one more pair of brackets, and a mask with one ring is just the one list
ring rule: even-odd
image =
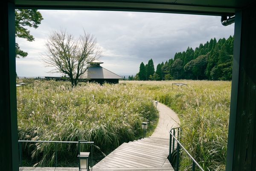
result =
[[[175,137],[175,129],[178,129],[178,134],[177,134],[177,138]],[[172,130],[174,130],[174,133],[172,133]],[[176,171],[179,170],[179,158],[178,158],[178,153],[179,153],[179,150],[180,150],[180,147],[186,152],[186,154],[189,156],[189,158],[193,161],[192,162],[192,171],[195,171],[195,165],[198,166],[198,168],[201,170],[201,171],[204,171],[204,169],[198,164],[198,162],[195,161],[195,159],[191,156],[191,154],[189,154],[189,152],[183,147],[183,145],[179,142],[179,138],[180,138],[180,127],[178,128],[172,128],[170,131],[169,131],[170,135],[170,145],[169,145],[169,159],[170,159],[170,155],[172,153],[172,150],[174,149],[174,144],[175,144],[175,141],[177,142],[177,164],[176,164]],[[172,144],[172,138],[173,138],[173,144]],[[173,146],[172,146],[173,145]],[[172,147],[173,148],[172,148]],[[172,148],[172,150],[171,150]]]

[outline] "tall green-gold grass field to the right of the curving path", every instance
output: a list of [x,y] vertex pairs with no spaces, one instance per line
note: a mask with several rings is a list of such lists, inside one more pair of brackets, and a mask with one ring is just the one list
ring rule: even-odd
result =
[[[172,83],[182,82],[188,88]],[[230,81],[126,81],[171,107],[181,120],[182,144],[205,171],[224,171],[230,111]],[[185,155],[181,170],[191,170]]]

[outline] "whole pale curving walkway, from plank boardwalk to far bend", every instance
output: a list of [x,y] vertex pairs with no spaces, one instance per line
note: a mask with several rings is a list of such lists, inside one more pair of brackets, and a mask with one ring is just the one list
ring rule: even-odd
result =
[[93,166],[96,171],[173,171],[169,155],[169,130],[177,127],[177,114],[158,103],[159,121],[151,137],[123,143]]

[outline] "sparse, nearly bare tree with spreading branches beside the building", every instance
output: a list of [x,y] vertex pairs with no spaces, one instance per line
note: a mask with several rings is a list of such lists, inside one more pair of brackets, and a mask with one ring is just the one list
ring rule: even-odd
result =
[[61,72],[70,77],[72,87],[89,67],[101,56],[96,38],[84,32],[78,39],[66,31],[52,32],[46,43],[47,52],[43,58],[46,66],[55,67],[52,72]]

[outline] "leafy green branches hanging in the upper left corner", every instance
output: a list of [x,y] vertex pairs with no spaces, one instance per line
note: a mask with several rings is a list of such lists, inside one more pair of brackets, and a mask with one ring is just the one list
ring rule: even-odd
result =
[[[25,38],[27,41],[34,41],[35,38],[30,35],[26,26],[37,29],[43,19],[41,13],[36,9],[15,9],[15,36]],[[27,55],[28,53],[20,50],[18,43],[16,43],[16,57],[25,58]]]

